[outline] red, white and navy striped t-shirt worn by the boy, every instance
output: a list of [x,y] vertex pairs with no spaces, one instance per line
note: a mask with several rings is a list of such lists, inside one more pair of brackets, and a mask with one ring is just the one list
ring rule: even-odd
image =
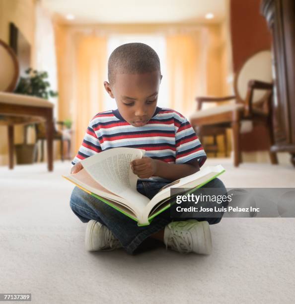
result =
[[[207,158],[189,121],[175,110],[156,107],[152,118],[142,127],[130,125],[118,109],[96,114],[72,164],[116,147],[144,149],[145,156],[168,163],[186,163],[197,158],[200,167]],[[158,176],[139,180],[167,181]]]

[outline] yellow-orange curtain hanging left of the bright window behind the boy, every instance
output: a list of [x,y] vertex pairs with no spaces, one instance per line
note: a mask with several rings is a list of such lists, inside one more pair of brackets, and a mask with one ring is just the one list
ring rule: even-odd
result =
[[107,68],[107,39],[96,35],[75,37],[74,151],[78,151],[89,120],[103,107]]

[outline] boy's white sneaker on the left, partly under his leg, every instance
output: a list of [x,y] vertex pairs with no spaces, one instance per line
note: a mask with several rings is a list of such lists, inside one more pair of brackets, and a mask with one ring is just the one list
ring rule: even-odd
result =
[[97,221],[90,220],[86,227],[85,247],[88,251],[109,251],[122,248],[122,245],[111,230]]

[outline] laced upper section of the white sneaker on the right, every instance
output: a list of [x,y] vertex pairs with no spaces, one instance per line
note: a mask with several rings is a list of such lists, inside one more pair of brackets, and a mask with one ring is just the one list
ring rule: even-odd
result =
[[179,233],[177,227],[170,226],[169,228],[171,233],[166,242],[166,250],[169,243],[169,246],[174,246],[180,253],[189,253],[193,251],[193,236],[191,231],[186,230]]

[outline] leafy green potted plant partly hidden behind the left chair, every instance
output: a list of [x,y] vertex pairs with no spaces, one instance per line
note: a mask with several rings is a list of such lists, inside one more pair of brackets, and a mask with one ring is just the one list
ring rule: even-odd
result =
[[[25,71],[25,77],[20,77],[19,82],[14,90],[17,94],[31,95],[44,99],[49,97],[56,97],[58,93],[50,90],[50,83],[47,81],[47,72],[38,72],[31,68]],[[36,153],[36,142],[33,144],[28,144],[27,132],[29,127],[34,127],[34,125],[24,126],[24,142],[23,144],[15,145],[16,152],[16,162],[18,164],[33,163]]]

